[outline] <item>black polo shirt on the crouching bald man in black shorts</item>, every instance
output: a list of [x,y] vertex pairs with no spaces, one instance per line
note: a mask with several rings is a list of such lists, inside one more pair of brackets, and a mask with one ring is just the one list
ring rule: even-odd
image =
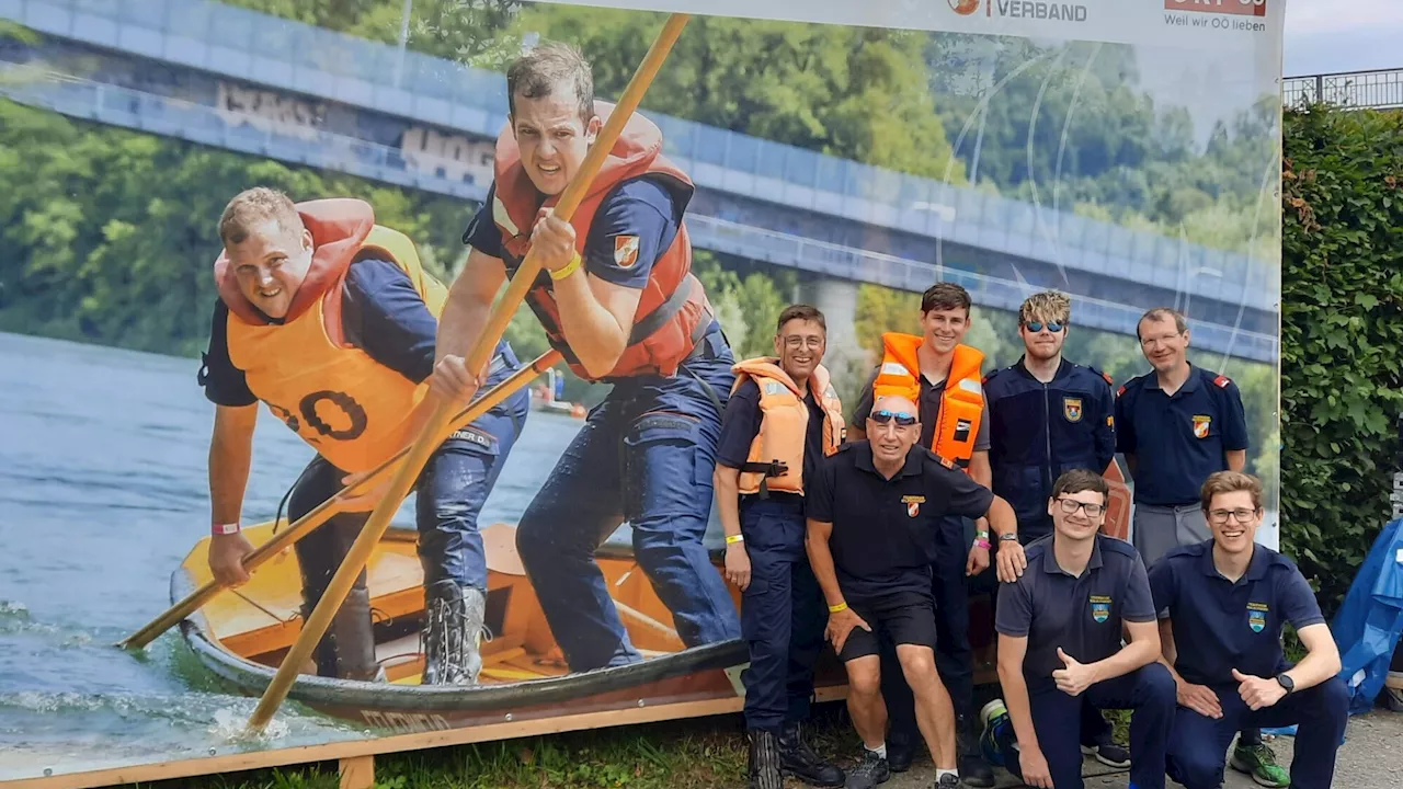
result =
[[833,525],[828,545],[845,597],[929,597],[941,519],[982,517],[993,493],[920,446],[888,480],[873,466],[871,444],[854,441],[824,458],[807,504],[810,519]]

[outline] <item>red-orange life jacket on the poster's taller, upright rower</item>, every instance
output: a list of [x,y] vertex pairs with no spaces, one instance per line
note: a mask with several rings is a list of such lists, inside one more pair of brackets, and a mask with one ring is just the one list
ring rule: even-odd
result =
[[[595,108],[600,118],[607,119],[613,105],[596,101]],[[659,178],[672,192],[679,215],[692,199],[694,191],[692,180],[662,156],[662,132],[647,118],[634,114],[570,220],[575,227],[575,248],[579,254],[585,253],[589,226],[605,197],[620,183],[640,175]],[[492,220],[502,232],[506,271],[515,275],[530,248],[530,232],[536,226],[540,209],[553,206],[558,195],[542,202],[540,192],[521,164],[521,149],[511,126],[497,138],[495,178]],[[637,256],[637,239],[630,247],[627,237],[619,236],[616,247],[615,260],[620,264],[630,253]],[[687,237],[686,223],[680,219],[676,237],[658,256],[648,274],[648,284],[633,314],[629,345],[606,375],[591,376],[571,351],[560,326],[560,310],[556,306],[549,272],[540,272],[526,295],[526,302],[546,329],[551,347],[564,355],[575,375],[586,380],[676,373],[678,365],[704,336],[714,314],[706,289],[692,274],[692,241]]]

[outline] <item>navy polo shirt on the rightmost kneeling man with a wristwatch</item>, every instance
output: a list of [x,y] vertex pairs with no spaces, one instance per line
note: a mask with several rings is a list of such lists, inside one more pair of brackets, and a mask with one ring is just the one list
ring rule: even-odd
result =
[[1275,677],[1287,670],[1281,626],[1324,622],[1296,564],[1270,548],[1251,549],[1247,573],[1229,581],[1214,566],[1214,541],[1176,548],[1149,574],[1155,608],[1174,628],[1174,670],[1195,685],[1236,685],[1232,670]]

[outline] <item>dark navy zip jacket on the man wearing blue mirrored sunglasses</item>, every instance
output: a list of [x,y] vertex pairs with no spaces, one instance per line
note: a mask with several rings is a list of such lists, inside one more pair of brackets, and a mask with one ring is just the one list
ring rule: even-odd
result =
[[1048,533],[1052,483],[1069,469],[1101,473],[1115,458],[1115,397],[1096,369],[1062,359],[1049,383],[1033,378],[1020,358],[984,379],[993,493],[1024,524]]

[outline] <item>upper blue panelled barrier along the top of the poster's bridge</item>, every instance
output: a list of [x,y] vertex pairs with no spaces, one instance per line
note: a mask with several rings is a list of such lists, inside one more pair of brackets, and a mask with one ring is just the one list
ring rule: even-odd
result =
[[[495,136],[505,122],[502,74],[210,0],[10,0],[8,6],[21,7],[20,21],[45,32],[240,80],[476,135]],[[1256,310],[1277,309],[1278,278],[1260,277],[1261,261],[1246,254],[1079,216],[1055,199],[1003,198],[647,115],[664,129],[666,153],[703,187]],[[1263,234],[1274,232],[1273,222],[1263,223]]]

